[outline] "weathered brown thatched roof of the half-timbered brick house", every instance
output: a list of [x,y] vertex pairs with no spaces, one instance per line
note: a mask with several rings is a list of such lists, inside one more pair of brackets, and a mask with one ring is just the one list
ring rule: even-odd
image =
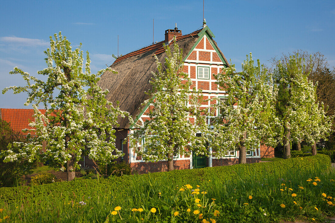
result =
[[[187,56],[197,42],[199,38],[197,34],[201,30],[177,37],[176,43],[179,49],[183,49],[183,58]],[[161,41],[117,58],[110,68],[116,70],[118,74],[105,72],[98,82],[102,89],[110,91],[107,100],[113,102],[114,106],[119,101],[120,109],[128,111],[133,119],[140,114],[145,106],[141,105],[149,97],[145,92],[152,89],[149,83],[152,78],[151,72],[157,71],[154,54],[160,62],[164,63],[166,55],[164,54],[163,43],[164,41]],[[221,51],[220,53],[222,54]],[[222,56],[228,64],[223,54]],[[130,127],[128,118],[120,118],[118,124],[120,125],[118,128],[128,129]]]

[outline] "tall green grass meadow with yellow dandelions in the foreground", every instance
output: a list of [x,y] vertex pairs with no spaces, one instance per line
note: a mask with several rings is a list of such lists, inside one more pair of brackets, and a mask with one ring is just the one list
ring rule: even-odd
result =
[[[252,166],[252,165],[251,165]],[[2,222],[278,222],[300,219],[322,222],[335,214],[335,172],[311,166],[282,174],[241,168],[239,176],[222,181],[171,179],[149,175],[131,178],[127,193],[118,188],[71,196],[48,192],[18,193],[12,203],[0,200]]]

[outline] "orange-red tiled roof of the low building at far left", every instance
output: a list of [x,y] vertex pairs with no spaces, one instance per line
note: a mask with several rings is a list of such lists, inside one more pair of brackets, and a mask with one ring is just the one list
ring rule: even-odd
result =
[[[44,115],[46,109],[39,109]],[[10,123],[14,131],[21,132],[22,129],[30,129],[29,123],[35,121],[34,109],[20,109],[20,108],[0,108],[1,119]],[[27,133],[23,133],[26,135]],[[34,134],[34,133],[31,133]]]

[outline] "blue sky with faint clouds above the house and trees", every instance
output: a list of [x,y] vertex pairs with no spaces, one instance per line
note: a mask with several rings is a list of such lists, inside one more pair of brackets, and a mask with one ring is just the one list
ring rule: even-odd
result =
[[[62,31],[72,46],[82,43],[96,72],[127,54],[164,39],[164,30],[183,34],[202,25],[202,1],[4,1],[0,3],[0,89],[25,85],[9,75],[18,66],[31,75],[46,68],[43,51],[49,36]],[[320,51],[335,66],[335,1],[205,0],[205,18],[215,41],[239,70],[245,55],[268,64],[296,49]],[[41,77],[45,79],[45,77]],[[0,94],[1,108],[24,106],[27,95]]]

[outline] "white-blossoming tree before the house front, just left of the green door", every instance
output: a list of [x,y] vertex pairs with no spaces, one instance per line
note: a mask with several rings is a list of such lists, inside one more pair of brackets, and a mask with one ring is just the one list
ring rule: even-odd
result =
[[[150,104],[150,120],[143,125],[135,125],[131,135],[131,145],[145,161],[167,160],[167,170],[173,170],[174,154],[190,155],[190,151],[207,154],[207,124],[200,109],[201,95],[192,85],[188,74],[182,72],[182,52],[174,43],[173,52],[165,46],[165,63],[156,58],[157,72],[153,73],[151,98],[144,104]],[[189,104],[189,105],[188,105]],[[195,119],[191,123],[190,117]],[[196,133],[201,132],[201,137]],[[138,150],[138,143],[142,149]]]

